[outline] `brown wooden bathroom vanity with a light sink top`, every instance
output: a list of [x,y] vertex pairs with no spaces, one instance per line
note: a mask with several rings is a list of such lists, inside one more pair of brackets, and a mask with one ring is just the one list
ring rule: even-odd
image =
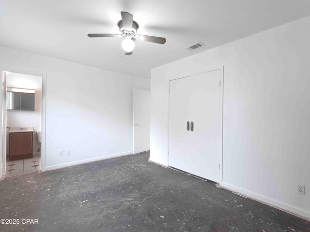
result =
[[32,158],[33,129],[12,128],[9,131],[9,161]]

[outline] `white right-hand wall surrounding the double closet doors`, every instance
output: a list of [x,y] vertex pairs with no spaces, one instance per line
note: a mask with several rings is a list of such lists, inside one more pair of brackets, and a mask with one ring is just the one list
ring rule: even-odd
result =
[[220,184],[310,217],[309,41],[306,17],[153,69],[150,160],[168,165],[169,80],[224,66]]

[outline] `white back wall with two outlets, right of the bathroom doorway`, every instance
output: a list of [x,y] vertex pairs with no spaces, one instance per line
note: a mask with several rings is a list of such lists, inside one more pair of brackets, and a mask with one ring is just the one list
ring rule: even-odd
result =
[[0,67],[46,73],[45,169],[132,152],[133,88],[149,81],[5,47]]

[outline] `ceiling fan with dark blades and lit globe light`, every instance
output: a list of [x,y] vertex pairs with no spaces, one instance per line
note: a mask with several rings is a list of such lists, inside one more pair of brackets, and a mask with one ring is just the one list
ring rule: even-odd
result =
[[138,24],[133,21],[133,15],[128,12],[121,12],[122,20],[119,21],[118,26],[122,34],[88,34],[88,37],[125,37],[122,42],[122,47],[125,51],[125,55],[131,55],[135,48],[135,42],[132,38],[140,41],[147,41],[152,43],[166,43],[166,39],[162,37],[150,36],[150,35],[137,35]]

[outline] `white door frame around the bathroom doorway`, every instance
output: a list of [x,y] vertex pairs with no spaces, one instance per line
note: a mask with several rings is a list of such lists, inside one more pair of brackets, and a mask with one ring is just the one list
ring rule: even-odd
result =
[[[11,68],[11,67],[1,67],[1,80],[3,78],[3,72],[11,72],[11,73],[23,73],[23,74],[29,74],[29,75],[37,75],[42,77],[42,95],[41,95],[41,135],[42,135],[42,141],[41,141],[41,171],[45,171],[45,160],[46,160],[46,99],[47,99],[47,74],[41,73],[37,71],[29,71],[29,70],[23,70],[18,68]],[[2,88],[0,90],[0,102],[2,101]],[[1,109],[3,110],[3,109]],[[2,120],[2,114],[0,115],[0,120]],[[0,133],[0,151],[2,153],[2,135]],[[5,154],[6,155],[6,154]],[[2,164],[2,160],[1,160]],[[0,172],[0,180],[2,179],[2,171]]]

